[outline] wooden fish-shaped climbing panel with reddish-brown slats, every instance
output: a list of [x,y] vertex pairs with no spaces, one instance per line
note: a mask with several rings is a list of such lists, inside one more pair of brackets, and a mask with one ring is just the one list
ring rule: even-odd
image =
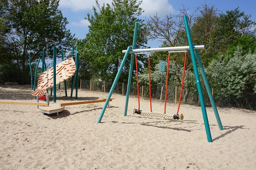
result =
[[[73,76],[76,70],[75,62],[73,58],[68,58],[67,60],[56,65],[57,72],[54,71],[54,67],[49,70],[44,71],[37,82],[37,90],[35,90],[32,95],[42,96],[46,93],[46,89],[56,86],[57,84],[65,81],[69,77]],[[55,73],[54,73],[55,72]],[[55,77],[55,83],[54,83]],[[57,81],[56,81],[57,80]],[[56,88],[56,87],[55,87]]]

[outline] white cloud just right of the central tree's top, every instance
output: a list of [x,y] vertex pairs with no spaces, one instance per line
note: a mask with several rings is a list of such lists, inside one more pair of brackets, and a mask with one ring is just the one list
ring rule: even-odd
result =
[[163,16],[175,12],[168,0],[143,0],[141,8],[144,10],[144,13],[142,13],[144,16],[152,16],[155,13]]

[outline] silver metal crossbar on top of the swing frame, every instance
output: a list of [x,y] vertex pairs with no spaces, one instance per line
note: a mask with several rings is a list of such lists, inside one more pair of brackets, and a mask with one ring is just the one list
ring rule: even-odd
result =
[[[195,45],[194,50],[204,49],[205,45]],[[150,49],[134,49],[129,53],[140,53],[140,52],[153,52],[153,51],[177,51],[177,50],[189,50],[189,46],[181,47],[163,47],[163,48],[150,48]],[[122,53],[126,53],[126,50],[123,50]]]

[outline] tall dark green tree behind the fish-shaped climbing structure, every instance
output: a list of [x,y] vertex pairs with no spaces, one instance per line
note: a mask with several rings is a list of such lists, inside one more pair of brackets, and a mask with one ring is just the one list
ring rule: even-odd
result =
[[5,18],[10,27],[8,40],[12,57],[18,67],[20,83],[28,83],[28,53],[32,62],[39,58],[45,47],[45,38],[56,41],[57,48],[65,48],[72,41],[66,29],[67,18],[58,10],[59,0],[8,0],[9,8]]

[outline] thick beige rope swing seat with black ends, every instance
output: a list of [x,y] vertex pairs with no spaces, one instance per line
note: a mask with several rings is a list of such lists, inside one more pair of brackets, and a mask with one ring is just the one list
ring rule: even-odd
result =
[[180,115],[170,115],[170,114],[166,114],[166,113],[161,113],[161,112],[145,112],[145,111],[142,111],[142,110],[139,110],[139,109],[133,109],[133,115],[134,114],[138,114],[138,115],[141,115],[141,116],[154,116],[154,117],[162,117],[162,118],[165,118],[165,119],[171,119],[171,120],[178,120],[178,119],[181,119],[183,120],[184,116],[183,114],[180,114]]

